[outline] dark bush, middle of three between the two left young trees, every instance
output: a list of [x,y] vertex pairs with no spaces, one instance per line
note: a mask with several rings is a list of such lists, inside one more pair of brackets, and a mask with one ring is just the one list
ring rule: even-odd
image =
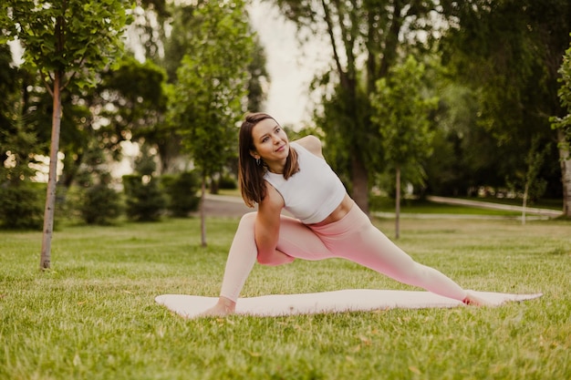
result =
[[[148,180],[147,180],[148,179]],[[149,176],[123,176],[127,217],[132,221],[158,221],[166,200],[158,181]]]

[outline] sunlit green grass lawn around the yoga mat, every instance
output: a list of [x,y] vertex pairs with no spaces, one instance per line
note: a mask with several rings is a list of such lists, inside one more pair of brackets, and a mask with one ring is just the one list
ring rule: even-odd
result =
[[[389,236],[393,221],[376,221]],[[183,320],[161,293],[216,295],[237,220],[0,232],[1,379],[571,378],[571,222],[403,220],[399,244],[497,308]],[[411,289],[351,262],[255,266],[244,296]]]

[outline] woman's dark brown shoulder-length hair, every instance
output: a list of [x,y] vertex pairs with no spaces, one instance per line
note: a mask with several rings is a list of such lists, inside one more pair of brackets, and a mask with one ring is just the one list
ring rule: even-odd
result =
[[[247,114],[240,127],[238,180],[240,181],[242,198],[244,198],[244,202],[248,207],[254,207],[254,203],[260,203],[265,198],[264,175],[267,168],[263,164],[258,165],[250,152],[255,150],[252,129],[254,129],[257,123],[266,118],[271,118],[275,121],[275,118],[262,112]],[[277,121],[275,122],[277,123]],[[297,171],[299,171],[297,152],[290,147],[289,155],[285,160],[285,180],[296,174]]]

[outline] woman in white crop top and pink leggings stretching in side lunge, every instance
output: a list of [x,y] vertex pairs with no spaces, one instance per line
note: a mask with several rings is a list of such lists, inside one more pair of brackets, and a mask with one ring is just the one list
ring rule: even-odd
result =
[[250,207],[257,203],[258,211],[240,221],[218,303],[202,315],[234,313],[256,260],[280,265],[296,258],[344,258],[432,293],[485,304],[441,272],[414,262],[374,227],[327,165],[319,139],[306,136],[290,144],[265,113],[247,115],[239,139],[242,196]]

